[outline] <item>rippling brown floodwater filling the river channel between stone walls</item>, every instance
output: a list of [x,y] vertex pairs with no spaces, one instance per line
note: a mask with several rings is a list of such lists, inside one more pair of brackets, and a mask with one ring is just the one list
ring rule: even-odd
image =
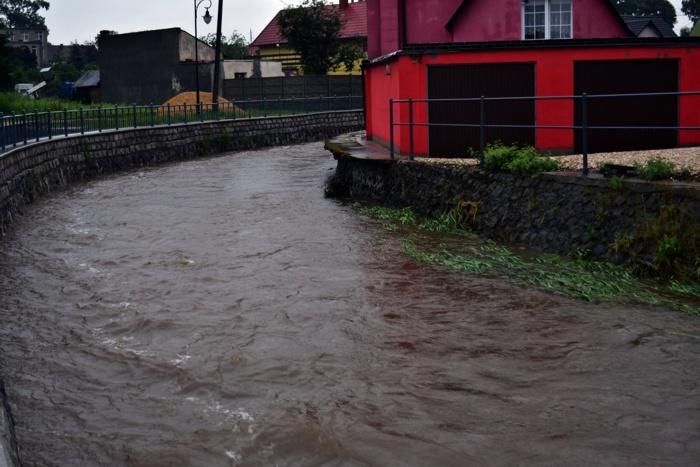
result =
[[418,265],[320,144],[109,177],[0,252],[27,466],[700,464],[700,319]]

